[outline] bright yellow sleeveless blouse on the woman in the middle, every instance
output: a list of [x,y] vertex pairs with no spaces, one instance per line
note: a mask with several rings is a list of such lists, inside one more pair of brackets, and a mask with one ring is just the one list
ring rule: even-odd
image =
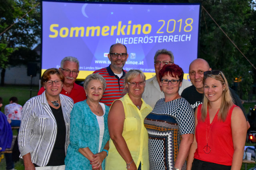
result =
[[[145,117],[152,111],[152,107],[142,99],[140,110],[132,103],[128,94],[118,99],[124,106],[124,129],[122,136],[126,141],[137,168],[141,162],[141,170],[149,170],[148,160],[148,132],[144,127]],[[106,157],[106,170],[126,170],[126,162],[120,156],[113,141],[109,140],[109,151]]]

